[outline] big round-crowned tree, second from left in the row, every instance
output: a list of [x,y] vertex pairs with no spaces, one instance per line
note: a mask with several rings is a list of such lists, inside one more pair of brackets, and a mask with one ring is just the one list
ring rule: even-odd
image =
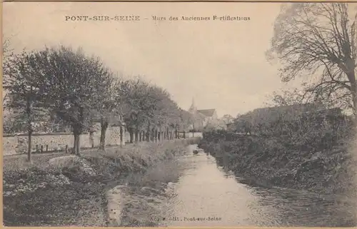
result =
[[45,49],[36,55],[43,101],[52,113],[71,126],[74,153],[80,154],[80,135],[91,125],[94,104],[101,101],[109,85],[109,71],[94,56],[69,47]]

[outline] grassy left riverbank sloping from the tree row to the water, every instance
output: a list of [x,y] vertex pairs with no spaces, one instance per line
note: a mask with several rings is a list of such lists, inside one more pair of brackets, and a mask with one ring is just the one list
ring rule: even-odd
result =
[[80,158],[44,156],[33,166],[4,160],[4,225],[105,226],[105,194],[113,183],[128,183],[193,141],[141,143]]

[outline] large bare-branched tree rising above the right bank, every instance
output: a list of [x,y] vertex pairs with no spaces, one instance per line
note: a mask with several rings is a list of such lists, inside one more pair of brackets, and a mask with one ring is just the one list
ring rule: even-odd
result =
[[306,76],[305,92],[356,114],[356,19],[346,3],[284,5],[276,19],[268,58],[277,58],[288,82]]

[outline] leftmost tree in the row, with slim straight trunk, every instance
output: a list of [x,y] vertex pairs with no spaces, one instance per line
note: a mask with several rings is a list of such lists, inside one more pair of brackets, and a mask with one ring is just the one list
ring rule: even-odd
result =
[[34,53],[22,52],[12,55],[4,62],[4,86],[8,91],[9,101],[6,107],[11,108],[16,123],[25,124],[28,133],[27,160],[31,162],[31,136],[34,121],[46,115],[41,103],[41,80],[34,65]]

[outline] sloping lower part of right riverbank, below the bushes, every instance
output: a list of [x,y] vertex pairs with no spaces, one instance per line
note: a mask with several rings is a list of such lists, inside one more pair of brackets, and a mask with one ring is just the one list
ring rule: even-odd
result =
[[318,150],[296,150],[273,138],[246,136],[231,141],[224,137],[216,141],[203,138],[199,147],[248,185],[343,195],[353,193],[355,188],[355,158],[352,146],[346,142]]

